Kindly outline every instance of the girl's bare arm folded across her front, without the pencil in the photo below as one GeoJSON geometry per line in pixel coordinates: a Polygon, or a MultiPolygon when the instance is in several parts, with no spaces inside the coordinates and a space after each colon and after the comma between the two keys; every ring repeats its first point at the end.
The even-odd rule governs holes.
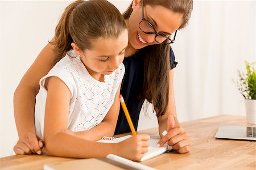
{"type": "Polygon", "coordinates": [[[76,135],[77,137],[81,137],[91,141],[97,141],[104,136],[112,137],[115,132],[115,126],[117,125],[117,118],[120,109],[119,102],[119,94],[120,94],[121,84],[119,85],[118,91],[115,94],[114,103],[112,107],[109,109],[109,112],[106,114],[104,120],[94,126],[90,130],[86,131],[69,131],[72,135],[76,135]]]}

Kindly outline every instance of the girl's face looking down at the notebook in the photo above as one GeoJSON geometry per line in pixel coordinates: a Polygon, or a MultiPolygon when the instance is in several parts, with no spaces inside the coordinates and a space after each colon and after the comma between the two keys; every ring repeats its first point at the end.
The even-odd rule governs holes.
{"type": "Polygon", "coordinates": [[[127,30],[123,31],[117,39],[96,39],[92,42],[92,49],[76,52],[86,69],[96,78],[101,75],[112,74],[123,61],[128,43],[127,30]]]}

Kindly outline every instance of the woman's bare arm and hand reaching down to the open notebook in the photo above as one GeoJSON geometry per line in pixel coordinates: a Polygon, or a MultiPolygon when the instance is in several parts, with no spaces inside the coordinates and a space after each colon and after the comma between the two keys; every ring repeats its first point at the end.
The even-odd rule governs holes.
{"type": "Polygon", "coordinates": [[[162,137],[162,139],[159,141],[159,145],[162,146],[164,143],[168,142],[168,145],[172,146],[174,150],[177,150],[180,154],[184,154],[191,150],[191,142],[187,132],[180,126],[179,121],[177,120],[174,100],[174,69],[169,71],[169,75],[169,103],[166,113],[163,116],[158,117],[159,135],[162,137]],[[174,122],[170,121],[170,118],[168,120],[170,115],[174,117],[174,122]],[[164,130],[168,131],[165,136],[162,135],[164,130]]]}

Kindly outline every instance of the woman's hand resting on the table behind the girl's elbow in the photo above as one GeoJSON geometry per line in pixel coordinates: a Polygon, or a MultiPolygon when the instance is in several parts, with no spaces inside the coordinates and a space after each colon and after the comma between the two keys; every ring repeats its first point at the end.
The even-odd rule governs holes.
{"type": "Polygon", "coordinates": [[[44,142],[42,139],[37,137],[35,133],[30,132],[19,139],[13,150],[17,155],[26,155],[32,153],[40,155],[42,154],[43,146],[44,142]]]}

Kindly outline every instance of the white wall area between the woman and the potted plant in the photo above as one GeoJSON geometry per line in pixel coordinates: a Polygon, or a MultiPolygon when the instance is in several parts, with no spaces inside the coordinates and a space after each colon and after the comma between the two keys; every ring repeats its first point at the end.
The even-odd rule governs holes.
{"type": "Polygon", "coordinates": [[[177,113],[181,121],[245,115],[232,78],[255,59],[255,1],[196,1],[173,45],[177,113]]]}

